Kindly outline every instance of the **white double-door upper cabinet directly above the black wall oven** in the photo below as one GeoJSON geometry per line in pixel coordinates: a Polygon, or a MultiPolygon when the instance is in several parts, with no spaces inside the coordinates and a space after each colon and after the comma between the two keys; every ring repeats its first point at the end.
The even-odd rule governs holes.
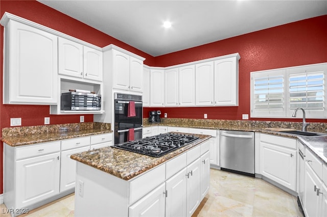
{"type": "Polygon", "coordinates": [[[143,60],[112,49],[112,88],[143,92],[143,60]]]}

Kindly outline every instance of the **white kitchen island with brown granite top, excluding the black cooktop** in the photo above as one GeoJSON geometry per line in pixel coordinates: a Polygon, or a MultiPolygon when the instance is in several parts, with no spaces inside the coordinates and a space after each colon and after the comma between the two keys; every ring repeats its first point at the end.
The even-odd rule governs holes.
{"type": "Polygon", "coordinates": [[[208,191],[209,135],[164,156],[114,147],[77,160],[76,216],[191,216],[208,191]],[[187,198],[187,200],[186,200],[187,198]]]}

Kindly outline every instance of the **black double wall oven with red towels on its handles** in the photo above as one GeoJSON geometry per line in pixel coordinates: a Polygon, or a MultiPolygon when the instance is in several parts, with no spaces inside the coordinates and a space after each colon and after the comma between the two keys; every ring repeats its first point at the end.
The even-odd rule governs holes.
{"type": "Polygon", "coordinates": [[[114,144],[142,139],[142,96],[114,94],[114,144]]]}

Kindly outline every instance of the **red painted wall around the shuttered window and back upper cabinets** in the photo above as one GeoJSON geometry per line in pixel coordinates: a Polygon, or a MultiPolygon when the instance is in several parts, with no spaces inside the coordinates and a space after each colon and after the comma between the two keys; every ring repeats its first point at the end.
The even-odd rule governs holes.
{"type": "MultiPolygon", "coordinates": [[[[149,111],[160,110],[168,113],[169,118],[203,118],[206,113],[208,119],[242,120],[242,114],[250,114],[251,71],[327,62],[326,47],[327,15],[324,15],[156,57],[156,66],[166,67],[240,53],[239,106],[144,108],[144,116],[149,117],[149,111]]],[[[325,119],[310,121],[326,122],[325,119]]]]}

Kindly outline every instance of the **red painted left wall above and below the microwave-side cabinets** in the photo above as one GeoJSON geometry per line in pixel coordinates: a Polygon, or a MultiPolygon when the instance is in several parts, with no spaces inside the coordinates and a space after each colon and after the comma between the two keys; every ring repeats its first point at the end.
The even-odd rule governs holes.
{"type": "MultiPolygon", "coordinates": [[[[48,26],[54,30],[104,47],[115,44],[129,50],[141,57],[146,58],[145,64],[154,65],[154,57],[125,44],[109,35],[106,35],[90,26],[58,12],[37,1],[0,1],[0,17],[5,12],[26,18],[39,24],[48,26]]],[[[43,125],[44,117],[50,117],[50,124],[77,123],[79,115],[49,115],[48,105],[4,105],[3,101],[3,37],[4,27],[1,26],[0,40],[0,129],[10,127],[10,118],[21,117],[22,126],[43,125]]],[[[85,122],[92,122],[93,115],[84,115],[85,122]]],[[[1,130],[0,130],[1,136],[1,130]]],[[[3,193],[3,143],[0,143],[0,194],[3,193]]]]}

